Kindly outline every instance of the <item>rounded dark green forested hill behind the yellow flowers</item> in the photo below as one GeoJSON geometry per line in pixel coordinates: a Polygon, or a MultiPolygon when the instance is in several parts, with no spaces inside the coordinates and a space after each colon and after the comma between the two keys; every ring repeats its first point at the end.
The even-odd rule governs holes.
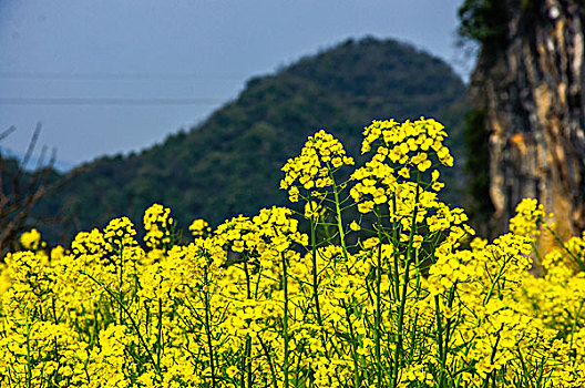
{"type": "Polygon", "coordinates": [[[321,127],[357,155],[362,129],[372,119],[433,116],[460,149],[464,94],[451,68],[428,53],[394,40],[348,40],[249,80],[235,101],[188,132],[140,154],[80,166],[38,214],[73,214],[75,229],[122,215],[141,223],[155,202],[172,207],[183,227],[198,217],[217,224],[253,215],[287,203],[278,190],[280,167],[321,127]]]}

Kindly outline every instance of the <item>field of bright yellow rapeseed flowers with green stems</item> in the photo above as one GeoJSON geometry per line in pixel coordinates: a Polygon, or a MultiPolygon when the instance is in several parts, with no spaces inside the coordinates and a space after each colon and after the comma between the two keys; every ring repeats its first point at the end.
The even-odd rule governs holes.
{"type": "Polygon", "coordinates": [[[445,137],[373,121],[356,166],[319,131],[283,167],[291,208],[196,219],[188,243],[157,204],[144,237],[127,217],[66,248],[25,233],[0,387],[585,386],[585,234],[537,252],[555,226],[528,198],[474,238],[440,201],[445,137]]]}

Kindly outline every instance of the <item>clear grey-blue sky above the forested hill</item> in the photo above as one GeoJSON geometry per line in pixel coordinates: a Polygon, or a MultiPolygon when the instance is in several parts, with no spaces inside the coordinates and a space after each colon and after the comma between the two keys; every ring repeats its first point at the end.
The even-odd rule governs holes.
{"type": "Polygon", "coordinates": [[[63,165],[140,151],[347,38],[394,38],[451,63],[462,0],[0,0],[0,146],[37,122],[63,165]]]}

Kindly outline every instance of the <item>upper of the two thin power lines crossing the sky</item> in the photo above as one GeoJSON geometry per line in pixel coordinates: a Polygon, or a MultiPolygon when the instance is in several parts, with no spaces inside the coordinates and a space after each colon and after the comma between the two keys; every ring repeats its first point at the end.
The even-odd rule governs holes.
{"type": "Polygon", "coordinates": [[[14,80],[214,80],[242,81],[248,75],[236,73],[65,73],[0,72],[0,79],[14,80]]]}

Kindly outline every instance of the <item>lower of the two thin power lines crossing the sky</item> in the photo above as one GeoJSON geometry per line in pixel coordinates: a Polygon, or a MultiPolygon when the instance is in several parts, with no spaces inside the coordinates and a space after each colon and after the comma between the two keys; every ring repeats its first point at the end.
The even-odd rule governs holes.
{"type": "Polygon", "coordinates": [[[226,99],[20,99],[0,98],[0,105],[214,105],[226,99]]]}

